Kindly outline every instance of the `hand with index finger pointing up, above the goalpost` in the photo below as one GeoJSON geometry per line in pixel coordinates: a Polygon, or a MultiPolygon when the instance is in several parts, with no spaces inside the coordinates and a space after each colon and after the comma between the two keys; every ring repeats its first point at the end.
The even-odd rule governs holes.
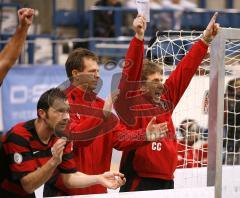
{"type": "Polygon", "coordinates": [[[209,44],[220,30],[220,25],[218,23],[216,23],[217,15],[218,15],[218,13],[215,12],[215,14],[211,18],[207,28],[203,32],[202,40],[206,44],[209,44]]]}

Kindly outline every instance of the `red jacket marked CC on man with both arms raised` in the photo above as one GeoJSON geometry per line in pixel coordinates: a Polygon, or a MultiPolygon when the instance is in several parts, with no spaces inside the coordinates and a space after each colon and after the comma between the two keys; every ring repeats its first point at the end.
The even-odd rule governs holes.
{"type": "MultiPolygon", "coordinates": [[[[134,114],[134,120],[131,120],[130,124],[126,123],[129,125],[129,129],[146,127],[153,115],[157,115],[156,123],[167,122],[168,125],[167,138],[148,143],[135,151],[123,152],[120,170],[126,175],[134,176],[134,173],[136,173],[140,177],[173,179],[173,173],[177,165],[177,140],[171,117],[172,112],[206,55],[207,48],[208,46],[199,40],[179,62],[176,69],[164,83],[165,92],[161,105],[152,103],[151,100],[144,96],[143,98],[146,99],[144,104],[139,103],[139,99],[134,101],[134,97],[129,99],[138,104],[135,105],[134,112],[133,110],[129,111],[129,108],[123,108],[123,105],[129,107],[126,102],[129,101],[128,99],[125,99],[125,103],[122,102],[123,99],[115,103],[115,109],[123,122],[126,123],[123,115],[134,114]]],[[[140,80],[143,54],[143,41],[133,38],[127,51],[127,63],[124,66],[123,77],[119,85],[121,90],[129,89],[131,82],[140,80]]],[[[130,116],[128,120],[130,120],[130,116]]]]}

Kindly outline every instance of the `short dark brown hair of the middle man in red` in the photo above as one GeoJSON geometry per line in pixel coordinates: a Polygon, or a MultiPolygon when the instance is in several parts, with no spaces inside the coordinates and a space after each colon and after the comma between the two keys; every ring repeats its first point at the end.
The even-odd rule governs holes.
{"type": "Polygon", "coordinates": [[[72,71],[74,69],[78,71],[83,71],[84,70],[84,58],[89,58],[95,61],[98,61],[98,57],[96,54],[91,52],[90,50],[84,49],[84,48],[77,48],[73,50],[69,56],[68,59],[65,63],[65,69],[68,78],[72,77],[72,71]]]}

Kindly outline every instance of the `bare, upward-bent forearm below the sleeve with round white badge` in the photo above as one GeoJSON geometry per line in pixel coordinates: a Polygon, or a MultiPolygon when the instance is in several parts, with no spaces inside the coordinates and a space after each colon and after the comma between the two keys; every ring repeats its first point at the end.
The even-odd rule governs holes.
{"type": "Polygon", "coordinates": [[[33,193],[50,179],[56,167],[56,163],[54,163],[53,158],[51,158],[41,168],[23,177],[21,179],[22,187],[26,192],[33,193]]]}

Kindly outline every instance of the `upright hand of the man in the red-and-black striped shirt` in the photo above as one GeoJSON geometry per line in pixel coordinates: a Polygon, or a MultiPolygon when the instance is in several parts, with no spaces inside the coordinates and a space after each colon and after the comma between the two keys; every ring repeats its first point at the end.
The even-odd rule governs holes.
{"type": "Polygon", "coordinates": [[[66,142],[67,140],[65,138],[60,138],[51,148],[52,159],[56,166],[62,163],[63,150],[65,148],[66,142]]]}

